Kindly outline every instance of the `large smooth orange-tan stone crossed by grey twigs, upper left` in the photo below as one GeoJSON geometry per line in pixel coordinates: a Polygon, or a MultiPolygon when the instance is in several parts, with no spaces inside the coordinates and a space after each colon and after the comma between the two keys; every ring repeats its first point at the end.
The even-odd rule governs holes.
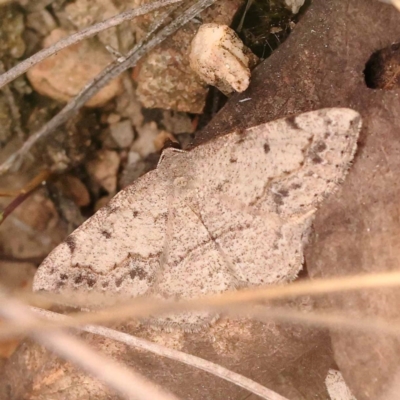
{"type": "MultiPolygon", "coordinates": [[[[68,33],[62,29],[53,30],[44,40],[44,47],[66,35],[68,33]]],[[[28,70],[27,77],[40,94],[59,101],[69,101],[112,61],[112,56],[95,40],[85,40],[33,66],[28,70]]],[[[121,78],[116,78],[95,94],[86,106],[101,107],[121,90],[121,78]]]]}

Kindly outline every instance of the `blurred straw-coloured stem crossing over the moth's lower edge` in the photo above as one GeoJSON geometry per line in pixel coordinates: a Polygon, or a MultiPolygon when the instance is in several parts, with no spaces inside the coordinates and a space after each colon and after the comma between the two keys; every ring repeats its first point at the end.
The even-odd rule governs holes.
{"type": "MultiPolygon", "coordinates": [[[[110,321],[122,321],[127,318],[146,318],[171,312],[190,310],[224,310],[232,305],[242,307],[257,301],[284,299],[303,295],[322,295],[335,292],[356,291],[383,287],[399,287],[400,272],[384,272],[312,281],[294,282],[285,286],[258,287],[239,291],[230,291],[220,295],[208,295],[200,299],[157,301],[150,298],[133,299],[114,307],[92,313],[70,314],[71,319],[59,321],[42,321],[41,324],[26,325],[21,328],[15,325],[0,327],[0,337],[11,337],[29,332],[32,329],[54,329],[55,327],[77,327],[90,324],[101,324],[110,321]]],[[[54,294],[52,294],[54,296],[54,294]]],[[[400,328],[396,327],[396,329],[400,328]]],[[[396,331],[397,332],[397,331],[396,331]]]]}

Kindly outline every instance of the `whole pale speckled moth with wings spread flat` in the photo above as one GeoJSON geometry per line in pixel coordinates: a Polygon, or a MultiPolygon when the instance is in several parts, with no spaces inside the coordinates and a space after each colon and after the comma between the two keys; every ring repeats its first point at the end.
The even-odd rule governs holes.
{"type": "MultiPolygon", "coordinates": [[[[288,282],[317,208],[345,178],[360,115],[328,108],[167,149],[43,261],[35,291],[187,299],[288,282]]],[[[185,312],[150,323],[201,329],[185,312]]]]}

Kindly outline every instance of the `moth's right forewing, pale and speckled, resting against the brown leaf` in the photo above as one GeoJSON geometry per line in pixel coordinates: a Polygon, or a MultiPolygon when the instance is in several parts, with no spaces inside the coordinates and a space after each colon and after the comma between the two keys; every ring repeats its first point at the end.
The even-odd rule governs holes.
{"type": "Polygon", "coordinates": [[[190,152],[193,184],[204,207],[220,194],[282,218],[304,214],[346,176],[360,127],[356,111],[327,108],[223,136],[190,152]]]}

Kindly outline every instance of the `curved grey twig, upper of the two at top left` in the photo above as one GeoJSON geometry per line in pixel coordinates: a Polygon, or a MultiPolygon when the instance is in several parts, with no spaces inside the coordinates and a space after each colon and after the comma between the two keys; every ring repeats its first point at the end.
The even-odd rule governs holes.
{"type": "Polygon", "coordinates": [[[7,85],[18,76],[25,73],[29,68],[33,67],[34,65],[40,63],[41,61],[45,60],[46,58],[52,56],[53,54],[59,52],[62,49],[65,49],[68,46],[71,46],[75,43],[78,43],[84,39],[90,38],[96,35],[99,32],[105,31],[110,29],[114,26],[121,24],[124,21],[129,21],[140,15],[148,14],[152,11],[155,11],[159,8],[169,6],[174,3],[181,3],[184,0],[160,0],[154,1],[143,6],[125,11],[121,14],[115,15],[114,17],[108,18],[98,24],[94,24],[87,28],[82,29],[79,32],[74,33],[71,36],[68,36],[64,39],[61,39],[57,43],[53,44],[50,47],[47,47],[33,56],[27,58],[26,60],[21,61],[18,65],[11,68],[9,71],[5,72],[4,74],[0,75],[0,88],[4,85],[7,85]]]}

